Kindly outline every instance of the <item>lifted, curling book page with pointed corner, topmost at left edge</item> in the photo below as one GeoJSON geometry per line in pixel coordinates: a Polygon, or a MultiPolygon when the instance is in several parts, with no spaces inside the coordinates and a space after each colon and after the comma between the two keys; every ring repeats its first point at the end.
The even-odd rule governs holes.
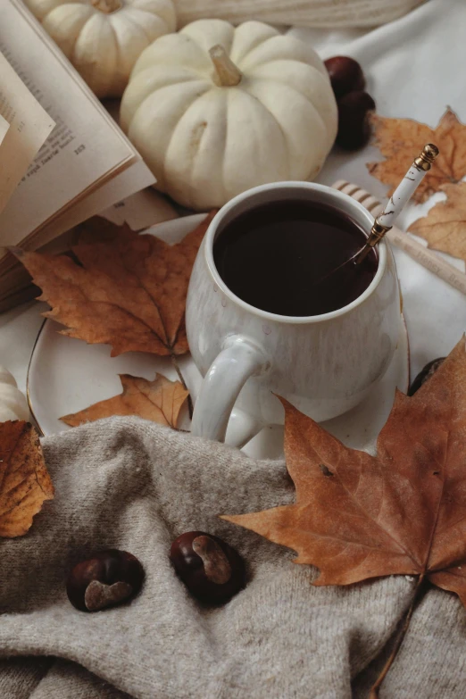
{"type": "Polygon", "coordinates": [[[55,122],[0,53],[0,212],[55,122]],[[6,129],[5,126],[6,125],[6,129]],[[2,129],[4,134],[2,137],[2,129]]]}

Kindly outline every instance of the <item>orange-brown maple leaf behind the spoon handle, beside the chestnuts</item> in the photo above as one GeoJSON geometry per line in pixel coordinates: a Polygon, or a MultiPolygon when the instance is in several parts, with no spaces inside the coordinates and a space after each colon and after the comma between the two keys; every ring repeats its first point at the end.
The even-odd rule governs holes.
{"type": "Polygon", "coordinates": [[[372,126],[375,145],[385,155],[382,162],[368,163],[370,174],[390,186],[392,195],[426,143],[440,149],[434,167],[412,195],[415,202],[425,202],[446,183],[459,182],[466,175],[466,126],[448,108],[436,129],[412,119],[389,119],[374,114],[372,126]]]}

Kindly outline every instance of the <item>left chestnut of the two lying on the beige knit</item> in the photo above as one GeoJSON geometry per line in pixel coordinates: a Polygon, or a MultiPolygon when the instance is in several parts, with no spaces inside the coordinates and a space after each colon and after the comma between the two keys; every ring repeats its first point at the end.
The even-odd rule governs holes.
{"type": "Polygon", "coordinates": [[[99,612],[137,595],[144,569],[136,556],[118,549],[94,553],[74,566],[66,583],[68,599],[81,612],[99,612]]]}

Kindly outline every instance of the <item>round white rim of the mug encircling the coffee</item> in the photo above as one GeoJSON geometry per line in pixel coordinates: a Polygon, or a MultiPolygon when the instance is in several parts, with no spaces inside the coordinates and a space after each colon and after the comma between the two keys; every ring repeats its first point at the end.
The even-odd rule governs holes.
{"type": "Polygon", "coordinates": [[[226,295],[230,299],[230,301],[240,306],[243,310],[250,313],[254,313],[254,315],[257,315],[264,320],[271,320],[275,322],[296,325],[304,325],[306,323],[318,323],[323,322],[325,320],[333,320],[334,318],[338,318],[341,315],[345,315],[345,313],[353,311],[354,308],[357,308],[359,305],[363,304],[364,301],[366,301],[366,299],[369,298],[370,295],[372,295],[375,289],[379,286],[379,283],[382,277],[384,276],[385,270],[387,268],[388,250],[387,242],[385,241],[385,239],[381,240],[378,245],[379,265],[374,275],[374,278],[370,282],[369,287],[367,287],[365,291],[363,291],[362,294],[355,298],[354,301],[352,301],[350,304],[346,304],[345,306],[342,306],[342,308],[337,308],[336,311],[320,313],[320,315],[281,315],[279,313],[272,313],[270,311],[262,311],[261,308],[257,308],[252,304],[248,304],[246,301],[243,301],[242,298],[239,298],[239,296],[234,294],[231,291],[231,289],[225,284],[223,279],[221,279],[219,271],[217,270],[217,267],[213,260],[213,242],[217,229],[219,228],[221,221],[224,219],[224,217],[229,212],[231,212],[231,210],[234,209],[237,206],[237,204],[240,204],[241,202],[245,201],[245,199],[253,197],[254,195],[261,194],[262,192],[273,191],[274,189],[295,188],[304,189],[308,191],[318,191],[329,194],[335,199],[340,200],[346,206],[349,205],[350,207],[356,209],[367,220],[368,226],[370,228],[372,227],[374,219],[373,216],[370,215],[370,212],[368,212],[368,210],[365,209],[364,206],[362,206],[362,204],[357,202],[351,196],[348,196],[344,192],[340,192],[338,189],[333,189],[333,187],[328,187],[327,185],[320,185],[315,182],[304,182],[299,180],[271,182],[268,185],[259,185],[258,187],[246,189],[245,192],[242,192],[241,194],[234,196],[233,199],[230,199],[229,202],[227,204],[224,204],[221,207],[220,211],[215,214],[204,237],[204,254],[205,260],[207,262],[207,267],[212,275],[212,279],[216,286],[221,289],[223,294],[226,295]]]}

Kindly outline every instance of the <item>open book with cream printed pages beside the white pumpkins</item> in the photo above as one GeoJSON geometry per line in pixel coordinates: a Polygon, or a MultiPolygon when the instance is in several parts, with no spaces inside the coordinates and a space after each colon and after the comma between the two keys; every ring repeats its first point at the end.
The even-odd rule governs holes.
{"type": "MultiPolygon", "coordinates": [[[[29,283],[7,247],[62,252],[70,229],[153,183],[21,0],[0,0],[0,310],[26,297],[29,283]]],[[[153,208],[161,201],[141,195],[154,196],[153,208]]],[[[137,212],[137,202],[127,208],[137,212]]]]}

